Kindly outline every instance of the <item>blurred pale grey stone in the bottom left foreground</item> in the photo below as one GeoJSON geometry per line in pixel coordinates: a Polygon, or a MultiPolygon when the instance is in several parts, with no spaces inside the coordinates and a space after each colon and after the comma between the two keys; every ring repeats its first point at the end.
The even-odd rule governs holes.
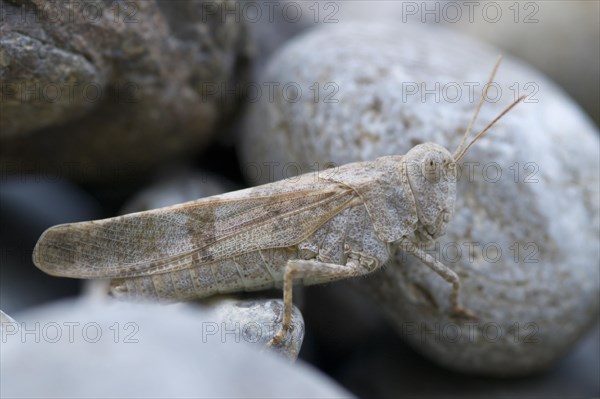
{"type": "Polygon", "coordinates": [[[65,301],[19,320],[34,332],[2,343],[2,397],[351,397],[302,362],[220,339],[221,320],[192,306],[65,301]]]}

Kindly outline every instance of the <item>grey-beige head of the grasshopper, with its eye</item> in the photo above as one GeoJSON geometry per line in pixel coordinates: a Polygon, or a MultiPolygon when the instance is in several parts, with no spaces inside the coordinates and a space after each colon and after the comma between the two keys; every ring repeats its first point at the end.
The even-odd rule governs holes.
{"type": "Polygon", "coordinates": [[[425,143],[405,158],[408,182],[419,222],[415,234],[424,242],[444,235],[456,201],[456,162],[444,147],[425,143]]]}

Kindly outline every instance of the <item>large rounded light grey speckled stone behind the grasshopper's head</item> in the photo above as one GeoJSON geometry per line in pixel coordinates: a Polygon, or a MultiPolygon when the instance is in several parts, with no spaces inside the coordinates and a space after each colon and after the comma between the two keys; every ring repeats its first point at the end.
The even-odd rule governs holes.
{"type": "MultiPolygon", "coordinates": [[[[274,101],[250,107],[243,162],[276,165],[274,177],[282,178],[291,163],[310,172],[404,154],[426,141],[453,151],[498,53],[432,26],[315,29],[269,63],[263,81],[296,82],[301,95],[280,87],[274,101]]],[[[460,301],[477,319],[451,318],[450,286],[402,253],[355,285],[437,362],[523,375],[549,367],[597,318],[599,142],[573,101],[516,59],[503,62],[495,82],[500,90],[490,89],[494,101],[484,104],[475,131],[517,88],[522,94],[529,84],[536,93],[464,158],[455,215],[430,251],[461,277],[460,301]]]]}

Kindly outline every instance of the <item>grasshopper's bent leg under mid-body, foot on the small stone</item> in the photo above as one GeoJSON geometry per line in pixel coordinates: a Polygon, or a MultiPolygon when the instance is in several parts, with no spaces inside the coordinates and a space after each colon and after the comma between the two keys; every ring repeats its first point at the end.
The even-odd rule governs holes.
{"type": "Polygon", "coordinates": [[[269,341],[267,346],[279,345],[289,332],[292,324],[292,289],[294,279],[305,277],[325,277],[343,279],[365,274],[366,271],[355,260],[345,265],[324,263],[317,260],[290,259],[283,275],[283,325],[281,330],[269,341]]]}

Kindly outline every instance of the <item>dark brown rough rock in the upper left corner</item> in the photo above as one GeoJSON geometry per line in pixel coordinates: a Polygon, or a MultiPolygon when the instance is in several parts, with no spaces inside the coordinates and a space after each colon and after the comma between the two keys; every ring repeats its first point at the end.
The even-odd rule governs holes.
{"type": "Polygon", "coordinates": [[[233,4],[0,2],[0,167],[116,181],[202,148],[249,76],[233,4]]]}

